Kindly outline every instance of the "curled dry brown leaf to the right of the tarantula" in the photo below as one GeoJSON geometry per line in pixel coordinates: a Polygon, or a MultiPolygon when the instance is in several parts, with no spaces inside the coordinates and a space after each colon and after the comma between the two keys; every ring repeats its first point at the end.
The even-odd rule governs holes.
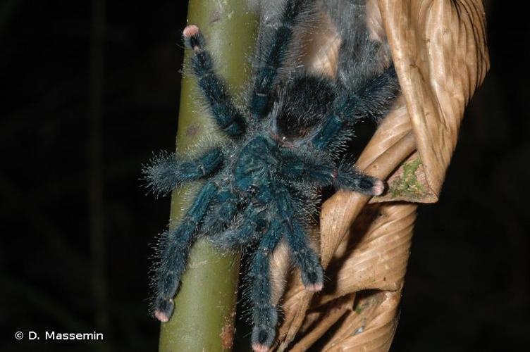
{"type": "MultiPolygon", "coordinates": [[[[291,275],[279,351],[304,351],[330,329],[322,351],[388,351],[415,203],[438,200],[464,107],[489,68],[481,0],[369,0],[367,10],[372,37],[390,45],[402,99],[357,165],[386,179],[388,191],[376,199],[339,191],[323,204],[327,287],[313,297],[291,275]],[[369,202],[381,204],[366,206],[369,202]]],[[[328,25],[326,18],[323,24],[328,25]]],[[[329,28],[322,32],[333,35],[329,28]]],[[[325,50],[310,51],[304,63],[332,74],[338,42],[329,37],[325,42],[325,50]]]]}

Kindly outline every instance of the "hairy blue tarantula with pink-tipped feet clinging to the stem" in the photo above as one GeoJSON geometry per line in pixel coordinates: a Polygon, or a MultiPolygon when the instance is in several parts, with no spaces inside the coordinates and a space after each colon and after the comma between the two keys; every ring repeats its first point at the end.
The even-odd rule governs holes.
{"type": "Polygon", "coordinates": [[[371,196],[384,191],[381,180],[341,161],[339,154],[355,122],[383,118],[398,93],[398,79],[392,64],[381,67],[381,45],[369,39],[362,20],[341,18],[330,5],[337,1],[359,5],[354,4],[359,0],[323,2],[342,37],[335,78],[288,65],[297,30],[316,12],[314,1],[287,0],[278,25],[260,34],[245,111],[235,106],[216,74],[199,27],[185,27],[192,72],[216,124],[231,142],[197,160],[162,154],[144,170],[149,187],[164,194],[184,182],[207,179],[180,225],[162,236],[154,270],[158,320],[167,322],[173,313],[173,296],[198,236],[208,237],[223,251],[252,249],[252,348],[267,351],[278,322],[269,276],[276,246],[281,241],[288,246],[307,291],[320,291],[323,270],[309,244],[307,220],[319,205],[315,194],[330,186],[371,196]]]}

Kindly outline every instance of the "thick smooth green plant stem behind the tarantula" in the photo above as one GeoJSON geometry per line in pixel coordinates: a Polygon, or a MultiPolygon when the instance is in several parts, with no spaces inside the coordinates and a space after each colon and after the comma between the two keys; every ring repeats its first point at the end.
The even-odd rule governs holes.
{"type": "MultiPolygon", "coordinates": [[[[254,48],[257,18],[247,11],[245,0],[190,0],[188,23],[198,25],[217,63],[216,69],[242,93],[250,72],[247,54],[254,48]]],[[[188,56],[190,53],[186,53],[188,56]]],[[[179,153],[200,153],[194,145],[207,138],[223,138],[198,101],[194,77],[185,75],[180,95],[177,144],[179,153]]],[[[197,189],[197,184],[190,189],[197,189]]],[[[170,227],[178,224],[184,191],[173,192],[170,227]]],[[[192,198],[190,198],[192,199],[192,198]]],[[[188,199],[189,200],[189,199],[188,199]]],[[[238,291],[238,253],[216,252],[205,240],[192,247],[171,320],[161,324],[159,351],[229,351],[233,344],[235,303],[238,291]]]]}

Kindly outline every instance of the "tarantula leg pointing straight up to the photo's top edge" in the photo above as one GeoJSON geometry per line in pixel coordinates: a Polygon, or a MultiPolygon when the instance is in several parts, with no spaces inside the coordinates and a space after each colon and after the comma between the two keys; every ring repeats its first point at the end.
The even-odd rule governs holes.
{"type": "Polygon", "coordinates": [[[281,13],[280,24],[271,34],[271,43],[264,48],[257,64],[256,79],[250,96],[250,113],[256,118],[264,118],[269,113],[271,92],[278,70],[288,55],[293,29],[298,15],[312,3],[308,0],[288,0],[281,13]]]}

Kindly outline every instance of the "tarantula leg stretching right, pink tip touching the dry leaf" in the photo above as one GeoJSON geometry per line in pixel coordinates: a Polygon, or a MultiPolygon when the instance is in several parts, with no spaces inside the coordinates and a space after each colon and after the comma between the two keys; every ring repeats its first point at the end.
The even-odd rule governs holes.
{"type": "Polygon", "coordinates": [[[283,151],[287,154],[283,160],[282,174],[293,180],[305,180],[315,187],[333,186],[335,189],[346,189],[367,196],[378,196],[385,190],[385,184],[369,175],[359,172],[353,163],[340,163],[338,166],[318,153],[297,153],[283,151]],[[292,155],[289,155],[292,154],[292,155]]]}

